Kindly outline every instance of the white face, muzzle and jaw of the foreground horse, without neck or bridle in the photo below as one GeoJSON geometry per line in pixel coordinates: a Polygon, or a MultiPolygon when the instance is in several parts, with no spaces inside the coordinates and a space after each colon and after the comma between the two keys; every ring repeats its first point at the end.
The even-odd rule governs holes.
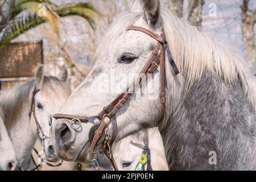
{"type": "MultiPolygon", "coordinates": [[[[147,5],[144,4],[146,1],[142,2],[143,8],[146,7],[147,5]]],[[[141,6],[140,3],[137,5],[141,6]]],[[[158,6],[158,4],[156,5],[158,6]]],[[[146,21],[151,16],[148,16],[146,9],[144,9],[145,15],[139,9],[142,10],[142,8],[134,7],[134,11],[132,10],[130,14],[118,19],[106,32],[97,49],[94,68],[68,98],[61,109],[61,113],[96,115],[103,106],[109,104],[126,90],[127,85],[131,85],[157,42],[142,32],[127,31],[127,28],[134,24],[154,30],[158,34],[162,28],[160,16],[154,16],[154,20],[146,21]]],[[[158,10],[159,6],[155,11],[158,10]]],[[[157,125],[160,113],[158,76],[159,72],[156,72],[155,79],[152,81],[155,86],[151,85],[150,93],[135,94],[129,99],[129,104],[123,106],[116,114],[118,122],[117,140],[136,133],[144,125],[147,127],[157,125]],[[148,112],[148,110],[154,110],[154,112],[148,112]]],[[[83,123],[82,131],[75,132],[69,128],[69,121],[65,119],[53,122],[51,134],[57,152],[65,160],[77,160],[79,158],[78,160],[89,162],[87,154],[90,145],[86,144],[85,147],[84,145],[89,141],[90,127],[92,124],[83,123]],[[81,155],[78,156],[79,154],[81,155]]]]}

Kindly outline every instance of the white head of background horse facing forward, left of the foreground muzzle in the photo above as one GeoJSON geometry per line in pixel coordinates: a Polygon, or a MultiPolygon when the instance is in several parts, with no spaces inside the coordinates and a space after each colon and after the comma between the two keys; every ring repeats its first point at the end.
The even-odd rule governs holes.
{"type": "MultiPolygon", "coordinates": [[[[59,158],[55,155],[54,148],[52,146],[51,139],[49,138],[49,123],[48,115],[53,111],[58,111],[60,107],[64,104],[69,96],[69,88],[66,85],[68,80],[67,69],[64,69],[63,73],[60,75],[60,78],[45,76],[43,66],[40,66],[35,74],[36,88],[39,89],[39,92],[35,94],[35,117],[31,113],[32,123],[35,123],[35,119],[38,119],[39,127],[42,127],[42,134],[46,135],[44,139],[44,152],[46,154],[46,159],[48,161],[56,161],[59,158]]],[[[36,126],[36,130],[38,127],[36,126]]],[[[40,132],[40,130],[39,130],[40,132]]]]}

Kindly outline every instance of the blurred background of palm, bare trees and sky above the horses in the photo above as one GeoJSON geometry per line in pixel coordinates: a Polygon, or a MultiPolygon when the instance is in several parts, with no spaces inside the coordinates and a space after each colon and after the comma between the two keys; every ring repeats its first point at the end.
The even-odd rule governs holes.
{"type": "MultiPolygon", "coordinates": [[[[256,2],[252,0],[161,0],[174,15],[236,44],[255,72],[256,2]],[[211,14],[212,13],[212,14],[211,14]]],[[[128,0],[0,0],[0,47],[9,42],[43,40],[51,74],[69,69],[73,88],[90,71],[93,55],[109,24],[130,11],[128,0]],[[39,16],[40,3],[46,15],[39,16]]],[[[218,38],[222,40],[223,38],[218,38]]]]}

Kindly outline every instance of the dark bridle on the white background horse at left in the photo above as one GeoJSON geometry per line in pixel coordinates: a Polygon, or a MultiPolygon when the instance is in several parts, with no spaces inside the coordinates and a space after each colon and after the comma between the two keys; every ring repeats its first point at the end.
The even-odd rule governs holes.
{"type": "MultiPolygon", "coordinates": [[[[36,86],[35,86],[35,88],[34,88],[34,90],[33,90],[33,92],[32,92],[32,101],[31,101],[31,106],[30,106],[30,111],[29,111],[29,113],[28,113],[28,117],[30,117],[30,121],[31,121],[31,116],[32,116],[32,114],[33,114],[33,117],[34,117],[34,119],[35,119],[35,124],[36,124],[36,133],[38,134],[38,138],[40,139],[40,142],[41,142],[41,144],[42,144],[42,146],[43,146],[43,151],[44,151],[44,140],[45,140],[45,139],[49,139],[49,137],[47,137],[46,135],[44,135],[43,129],[42,129],[42,127],[40,126],[40,124],[39,124],[39,122],[38,122],[38,119],[36,118],[36,114],[35,114],[35,95],[36,95],[36,93],[38,93],[39,91],[40,91],[40,89],[37,89],[36,86]],[[41,135],[40,135],[40,133],[41,133],[41,135]],[[41,137],[41,136],[42,136],[42,137],[41,137]]],[[[36,148],[34,147],[33,149],[34,149],[36,155],[39,156],[39,152],[36,150],[36,148]]],[[[40,158],[40,156],[39,156],[39,158],[40,158]]],[[[34,157],[32,156],[32,154],[31,154],[31,159],[32,159],[32,162],[33,162],[34,165],[35,165],[35,167],[34,167],[33,169],[31,169],[31,171],[35,171],[36,169],[40,169],[40,168],[42,167],[42,164],[36,164],[35,159],[34,159],[34,157]]],[[[51,167],[61,166],[62,163],[63,163],[63,160],[61,160],[60,162],[58,162],[58,163],[56,163],[56,164],[51,164],[51,163],[46,162],[46,164],[47,164],[48,166],[51,166],[51,167]]],[[[24,169],[22,169],[22,168],[19,167],[19,170],[20,170],[20,171],[23,171],[24,169]]]]}

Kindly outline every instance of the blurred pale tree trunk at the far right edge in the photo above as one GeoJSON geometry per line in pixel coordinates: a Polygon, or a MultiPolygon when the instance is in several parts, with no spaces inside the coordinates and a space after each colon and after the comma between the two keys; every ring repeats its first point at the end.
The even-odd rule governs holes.
{"type": "Polygon", "coordinates": [[[243,0],[241,5],[242,12],[242,34],[245,47],[245,56],[249,67],[253,68],[256,59],[254,24],[256,23],[256,9],[248,8],[249,0],[243,0]]]}

